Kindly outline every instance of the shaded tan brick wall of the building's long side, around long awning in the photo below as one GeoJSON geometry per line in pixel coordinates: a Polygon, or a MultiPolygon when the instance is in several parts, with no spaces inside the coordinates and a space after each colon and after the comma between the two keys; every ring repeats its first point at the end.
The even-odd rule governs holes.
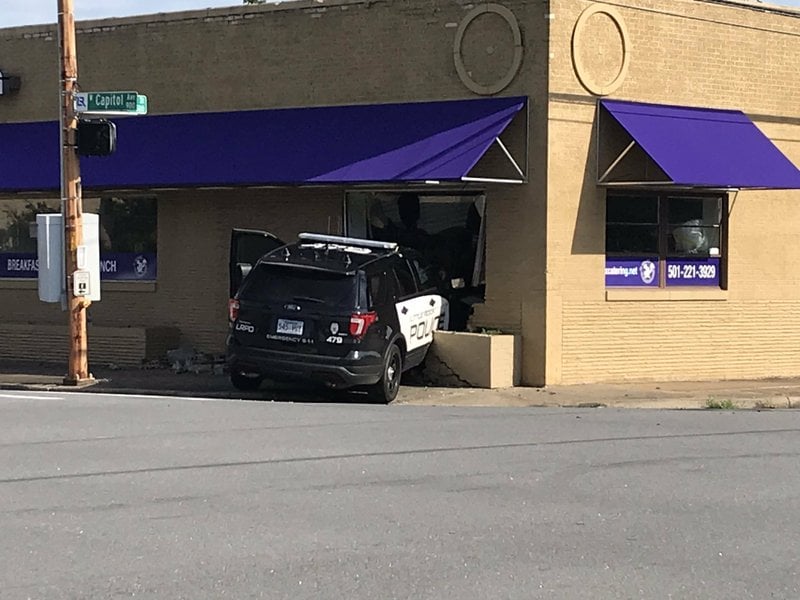
{"type": "MultiPolygon", "coordinates": [[[[533,184],[488,190],[489,291],[476,323],[514,331],[522,328],[523,308],[529,321],[536,315],[539,328],[544,318],[543,310],[531,310],[531,293],[538,290],[534,305],[543,303],[546,4],[505,3],[519,21],[525,51],[502,95],[532,97],[533,184]],[[508,255],[525,259],[508,261],[508,255]]],[[[84,90],[147,94],[151,114],[474,97],[453,61],[457,27],[472,8],[444,0],[339,0],[325,6],[301,1],[79,22],[79,79],[84,90]]],[[[491,83],[505,68],[513,51],[508,37],[507,26],[494,16],[480,17],[467,30],[464,61],[476,81],[491,83]]],[[[0,122],[55,119],[54,26],[0,30],[0,55],[4,69],[23,76],[20,93],[0,105],[0,122]]],[[[155,290],[114,292],[108,286],[92,318],[113,326],[179,325],[187,340],[204,350],[220,348],[224,337],[231,226],[260,222],[291,236],[307,228],[304,223],[324,229],[329,216],[336,221],[341,215],[341,190],[158,196],[155,290]],[[202,242],[187,243],[192,236],[202,242]]],[[[63,319],[57,309],[33,302],[32,290],[0,297],[36,305],[30,315],[12,310],[1,319],[63,319]]],[[[543,364],[540,358],[538,372],[543,364]]]]}

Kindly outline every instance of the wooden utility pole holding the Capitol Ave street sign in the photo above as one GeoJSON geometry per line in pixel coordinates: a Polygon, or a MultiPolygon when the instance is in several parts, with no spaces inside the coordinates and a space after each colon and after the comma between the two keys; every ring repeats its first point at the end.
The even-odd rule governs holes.
{"type": "Polygon", "coordinates": [[[73,0],[58,0],[58,46],[61,70],[61,214],[64,222],[64,281],[69,321],[69,370],[66,385],[92,380],[89,374],[86,309],[91,302],[73,293],[78,270],[78,248],[83,245],[83,200],[78,162],[75,96],[78,91],[78,58],[75,43],[73,0]]]}

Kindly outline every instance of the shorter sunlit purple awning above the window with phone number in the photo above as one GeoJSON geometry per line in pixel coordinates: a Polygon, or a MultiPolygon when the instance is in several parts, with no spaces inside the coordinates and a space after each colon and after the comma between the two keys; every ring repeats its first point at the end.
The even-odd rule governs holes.
{"type": "Polygon", "coordinates": [[[601,100],[675,185],[800,188],[800,170],[744,113],[601,100]]]}

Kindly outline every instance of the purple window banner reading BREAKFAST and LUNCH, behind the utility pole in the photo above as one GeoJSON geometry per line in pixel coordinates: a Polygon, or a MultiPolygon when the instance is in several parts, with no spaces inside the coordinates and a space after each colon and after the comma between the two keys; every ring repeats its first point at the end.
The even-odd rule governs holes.
{"type": "MultiPolygon", "coordinates": [[[[0,252],[0,278],[36,279],[39,260],[35,252],[0,252]]],[[[100,255],[102,281],[155,281],[156,254],[117,252],[100,255]]]]}

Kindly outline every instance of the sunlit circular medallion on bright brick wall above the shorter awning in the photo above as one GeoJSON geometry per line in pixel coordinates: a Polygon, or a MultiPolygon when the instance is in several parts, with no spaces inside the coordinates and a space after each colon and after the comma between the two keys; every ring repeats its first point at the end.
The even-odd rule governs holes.
{"type": "Polygon", "coordinates": [[[616,8],[593,4],[572,32],[572,63],[581,84],[597,96],[612,94],[628,73],[630,41],[616,8]]]}

